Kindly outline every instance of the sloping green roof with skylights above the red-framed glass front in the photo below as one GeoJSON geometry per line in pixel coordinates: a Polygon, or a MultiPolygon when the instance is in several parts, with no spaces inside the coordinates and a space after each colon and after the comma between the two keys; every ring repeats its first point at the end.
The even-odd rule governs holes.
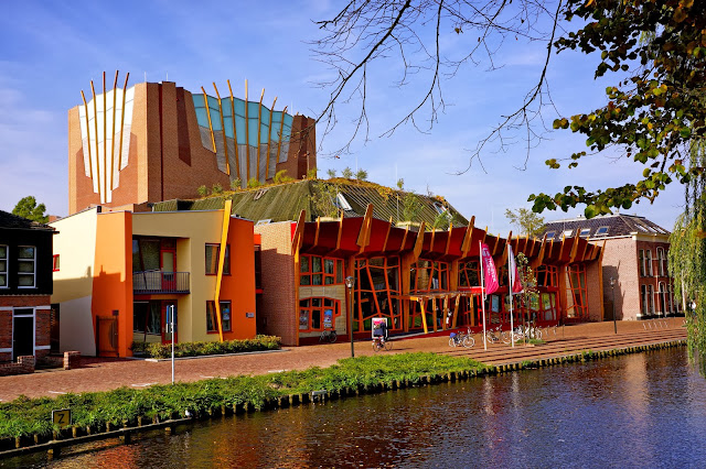
{"type": "Polygon", "coordinates": [[[304,179],[279,185],[225,193],[195,200],[165,200],[153,204],[153,211],[221,209],[225,199],[233,199],[233,214],[250,220],[297,220],[306,210],[307,221],[330,217],[343,210],[344,218],[362,217],[368,204],[373,204],[373,217],[394,222],[424,221],[432,226],[443,210],[448,210],[454,226],[466,226],[468,220],[443,197],[426,196],[392,189],[368,182],[343,178],[329,181],[304,179]],[[405,210],[405,200],[415,198],[417,210],[405,210]],[[328,211],[328,212],[327,212],[328,211]],[[406,214],[416,211],[411,220],[406,214]]]}

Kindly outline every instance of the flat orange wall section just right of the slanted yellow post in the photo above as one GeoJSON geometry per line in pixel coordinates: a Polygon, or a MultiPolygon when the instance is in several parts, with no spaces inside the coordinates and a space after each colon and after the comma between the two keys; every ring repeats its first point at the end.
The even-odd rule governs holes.
{"type": "Polygon", "coordinates": [[[228,244],[231,244],[231,275],[223,275],[221,297],[231,301],[232,331],[224,332],[224,340],[255,337],[255,250],[253,222],[231,218],[228,244]],[[246,317],[252,313],[253,317],[246,317]]]}

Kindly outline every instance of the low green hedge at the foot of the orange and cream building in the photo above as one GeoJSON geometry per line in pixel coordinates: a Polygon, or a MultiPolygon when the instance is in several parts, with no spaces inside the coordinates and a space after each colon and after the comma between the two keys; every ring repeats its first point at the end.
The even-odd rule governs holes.
{"type": "MultiPolygon", "coordinates": [[[[242,353],[259,350],[279,350],[281,339],[274,336],[257,336],[254,339],[224,340],[223,342],[179,342],[174,343],[174,357],[200,357],[204,355],[242,353]]],[[[132,342],[133,353],[145,353],[151,358],[170,358],[172,345],[161,342],[132,342]]]]}

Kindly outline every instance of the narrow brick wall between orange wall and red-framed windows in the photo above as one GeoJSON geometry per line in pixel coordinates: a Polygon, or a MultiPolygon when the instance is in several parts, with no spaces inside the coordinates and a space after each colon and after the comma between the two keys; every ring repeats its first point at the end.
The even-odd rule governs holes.
{"type": "Polygon", "coordinates": [[[291,255],[291,225],[255,227],[261,236],[263,301],[257,312],[257,332],[279,336],[282,343],[297,343],[298,317],[295,299],[295,260],[291,255]]]}

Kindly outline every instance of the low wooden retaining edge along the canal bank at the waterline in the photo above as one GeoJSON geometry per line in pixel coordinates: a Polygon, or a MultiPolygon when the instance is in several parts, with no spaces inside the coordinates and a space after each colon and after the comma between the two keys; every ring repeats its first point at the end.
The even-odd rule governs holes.
{"type": "MultiPolygon", "coordinates": [[[[674,340],[668,342],[649,343],[643,346],[625,347],[613,350],[601,350],[568,355],[564,357],[541,359],[541,360],[526,360],[516,363],[501,364],[496,367],[488,367],[480,371],[462,371],[462,372],[449,372],[443,374],[425,375],[420,377],[418,381],[393,381],[391,384],[381,383],[377,385],[362,385],[356,389],[345,388],[340,391],[327,391],[312,390],[310,393],[290,394],[271,399],[265,403],[261,411],[268,411],[279,407],[289,407],[293,405],[301,405],[312,402],[325,402],[338,399],[345,399],[349,396],[357,396],[362,394],[375,394],[386,391],[402,390],[406,388],[424,386],[438,383],[466,381],[477,377],[494,375],[514,372],[518,370],[537,369],[541,367],[552,367],[555,364],[574,363],[589,360],[597,360],[601,358],[617,357],[628,353],[638,353],[651,350],[667,349],[673,347],[682,347],[686,345],[686,340],[674,340]]],[[[150,418],[147,416],[139,416],[133,422],[125,421],[121,426],[116,426],[110,423],[105,426],[96,427],[77,427],[73,426],[64,428],[61,432],[54,432],[52,436],[33,435],[18,438],[4,438],[0,439],[0,458],[20,456],[28,452],[47,451],[50,458],[58,456],[62,448],[83,445],[89,441],[98,439],[111,439],[119,438],[120,443],[130,443],[131,434],[154,430],[163,428],[168,434],[175,430],[176,426],[191,425],[196,419],[208,419],[214,417],[222,417],[228,415],[238,415],[244,413],[257,412],[255,406],[250,403],[243,403],[228,406],[213,407],[207,412],[193,415],[189,418],[181,418],[181,415],[173,413],[168,421],[160,422],[159,418],[150,418]]]]}

